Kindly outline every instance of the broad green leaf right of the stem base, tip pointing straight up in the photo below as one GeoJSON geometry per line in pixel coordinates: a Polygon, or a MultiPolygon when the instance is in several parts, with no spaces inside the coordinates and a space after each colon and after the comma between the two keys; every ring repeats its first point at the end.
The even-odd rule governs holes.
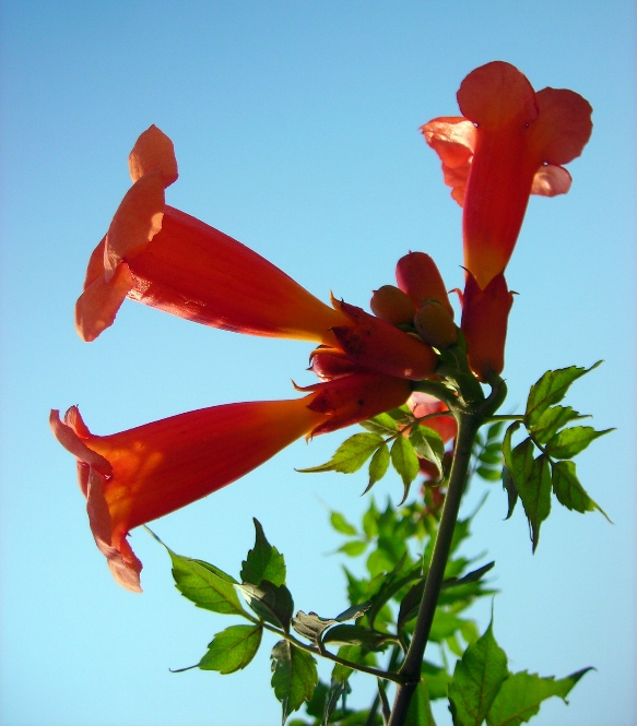
{"type": "Polygon", "coordinates": [[[506,653],[493,635],[493,622],[456,664],[449,687],[453,726],[480,726],[509,676],[506,653]]]}

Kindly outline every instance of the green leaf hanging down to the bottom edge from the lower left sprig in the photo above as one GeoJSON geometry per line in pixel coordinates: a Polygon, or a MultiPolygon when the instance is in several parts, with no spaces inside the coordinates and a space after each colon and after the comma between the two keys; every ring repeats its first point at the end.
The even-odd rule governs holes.
{"type": "Polygon", "coordinates": [[[282,724],[297,711],[304,701],[309,701],[318,683],[316,660],[292,643],[279,641],[272,648],[272,688],[283,706],[282,724]]]}

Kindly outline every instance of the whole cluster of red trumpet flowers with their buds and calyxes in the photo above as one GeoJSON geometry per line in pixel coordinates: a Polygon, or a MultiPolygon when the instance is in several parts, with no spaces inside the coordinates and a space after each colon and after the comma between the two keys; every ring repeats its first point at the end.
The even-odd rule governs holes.
{"type": "MultiPolygon", "coordinates": [[[[511,294],[503,273],[528,197],[567,191],[570,177],[558,165],[581,152],[590,107],[569,91],[535,94],[502,62],[473,71],[458,98],[464,117],[435,119],[423,132],[464,207],[461,331],[470,365],[486,381],[504,366],[511,294]]],[[[235,481],[303,436],[401,406],[414,381],[436,379],[459,330],[427,254],[398,262],[397,285],[374,294],[374,314],[343,300],[326,305],[240,242],[165,203],[178,172],[160,129],[141,134],[129,169],[133,183],[89,261],[75,307],[80,336],[94,341],[128,297],[213,328],[318,344],[310,365],[319,378],[297,389],[303,397],[213,406],[111,436],[91,433],[75,406],[63,418],[51,412],[55,436],[78,461],[97,547],[117,582],[139,592],[131,528],[235,481]]],[[[438,406],[427,413],[446,409],[426,405],[438,406]]],[[[453,438],[452,418],[434,421],[445,441],[453,438]]]]}

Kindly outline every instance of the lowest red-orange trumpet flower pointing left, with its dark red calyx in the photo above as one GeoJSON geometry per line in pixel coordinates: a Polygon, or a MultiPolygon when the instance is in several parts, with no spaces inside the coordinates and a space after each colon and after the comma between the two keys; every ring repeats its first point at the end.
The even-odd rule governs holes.
{"type": "Polygon", "coordinates": [[[91,433],[75,406],[63,420],[52,410],[52,431],[78,460],[91,529],[115,580],[141,591],[131,528],[225,487],[304,435],[356,424],[410,394],[408,381],[375,373],[310,390],[304,398],[202,408],[111,436],[91,433]]]}

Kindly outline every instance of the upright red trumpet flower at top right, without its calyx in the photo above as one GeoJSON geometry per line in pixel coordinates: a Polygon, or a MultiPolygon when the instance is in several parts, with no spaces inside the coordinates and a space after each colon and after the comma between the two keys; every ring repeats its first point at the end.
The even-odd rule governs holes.
{"type": "Polygon", "coordinates": [[[464,266],[484,290],[511,257],[529,195],[569,190],[562,165],[581,154],[592,109],[573,91],[535,93],[520,71],[502,61],[472,71],[458,105],[463,117],[436,118],[422,131],[443,160],[451,195],[464,207],[464,266]]]}

